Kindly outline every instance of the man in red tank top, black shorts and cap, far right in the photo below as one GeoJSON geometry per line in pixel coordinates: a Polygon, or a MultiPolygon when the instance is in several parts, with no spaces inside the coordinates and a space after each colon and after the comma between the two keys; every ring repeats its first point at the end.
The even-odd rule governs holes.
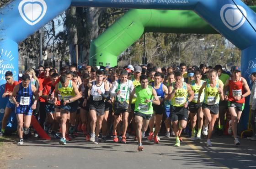
{"type": "Polygon", "coordinates": [[[229,87],[229,96],[225,95],[225,99],[228,100],[229,112],[231,114],[234,142],[235,145],[239,145],[239,139],[236,137],[236,126],[237,123],[239,123],[242,111],[245,108],[245,97],[251,94],[245,78],[241,77],[240,67],[233,67],[232,77],[230,77],[224,85],[224,93],[227,90],[227,87],[229,87]]]}

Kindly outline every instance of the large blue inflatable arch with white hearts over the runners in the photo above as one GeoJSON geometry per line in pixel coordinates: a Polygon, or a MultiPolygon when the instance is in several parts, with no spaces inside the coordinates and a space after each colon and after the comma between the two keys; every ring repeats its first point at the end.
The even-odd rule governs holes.
{"type": "MultiPolygon", "coordinates": [[[[0,94],[5,72],[17,80],[18,43],[53,20],[69,6],[193,10],[242,50],[242,76],[256,72],[256,13],[241,0],[13,0],[0,8],[0,94]]],[[[168,20],[167,20],[168,21],[168,20]]],[[[1,100],[2,103],[5,101],[1,100]]],[[[5,104],[0,105],[3,113],[5,104]]],[[[246,110],[245,110],[246,111],[246,110]]],[[[242,126],[248,122],[248,108],[242,126]]]]}

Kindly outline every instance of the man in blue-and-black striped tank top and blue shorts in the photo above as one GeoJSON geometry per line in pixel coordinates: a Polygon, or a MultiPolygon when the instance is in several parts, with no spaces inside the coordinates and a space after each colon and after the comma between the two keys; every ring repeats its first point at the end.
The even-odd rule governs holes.
{"type": "Polygon", "coordinates": [[[18,133],[19,133],[19,142],[17,144],[23,144],[23,131],[24,134],[29,133],[29,127],[31,123],[32,110],[36,109],[37,101],[39,95],[37,93],[37,88],[30,83],[29,75],[25,74],[21,77],[21,83],[17,84],[12,92],[12,101],[16,106],[16,117],[18,122],[18,133]],[[34,102],[32,98],[35,96],[34,102]],[[16,97],[16,98],[15,98],[16,97]],[[24,119],[24,120],[23,120],[24,119]],[[24,125],[23,125],[24,122],[24,125]],[[22,128],[24,130],[22,131],[22,128]]]}

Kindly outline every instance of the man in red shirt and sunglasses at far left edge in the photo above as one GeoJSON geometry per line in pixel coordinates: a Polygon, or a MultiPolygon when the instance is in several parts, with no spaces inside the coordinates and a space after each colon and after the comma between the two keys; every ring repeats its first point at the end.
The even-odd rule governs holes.
{"type": "Polygon", "coordinates": [[[1,128],[1,132],[0,132],[0,137],[5,134],[5,127],[6,127],[6,123],[7,123],[7,118],[9,117],[11,112],[15,110],[15,105],[14,105],[14,102],[12,102],[11,95],[12,95],[13,88],[17,84],[19,84],[19,82],[13,80],[11,71],[7,71],[5,73],[5,80],[6,80],[5,92],[4,92],[2,97],[3,98],[9,97],[9,99],[8,99],[7,104],[5,106],[5,114],[4,114],[4,117],[2,119],[2,128],[1,128]]]}

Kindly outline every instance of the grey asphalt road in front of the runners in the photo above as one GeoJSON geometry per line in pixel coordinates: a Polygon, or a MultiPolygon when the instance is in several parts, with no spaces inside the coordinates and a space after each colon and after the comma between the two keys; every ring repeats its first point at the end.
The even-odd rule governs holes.
{"type": "MultiPolygon", "coordinates": [[[[133,137],[132,137],[133,138],[133,137]]],[[[144,151],[137,152],[133,139],[126,144],[98,145],[85,142],[83,135],[59,145],[59,140],[25,140],[17,148],[17,157],[6,162],[7,168],[63,168],[63,169],[220,169],[256,168],[256,142],[240,139],[235,146],[231,136],[214,135],[212,147],[206,139],[191,142],[184,138],[181,147],[174,147],[175,138],[160,137],[160,144],[143,140],[144,151]]]]}

